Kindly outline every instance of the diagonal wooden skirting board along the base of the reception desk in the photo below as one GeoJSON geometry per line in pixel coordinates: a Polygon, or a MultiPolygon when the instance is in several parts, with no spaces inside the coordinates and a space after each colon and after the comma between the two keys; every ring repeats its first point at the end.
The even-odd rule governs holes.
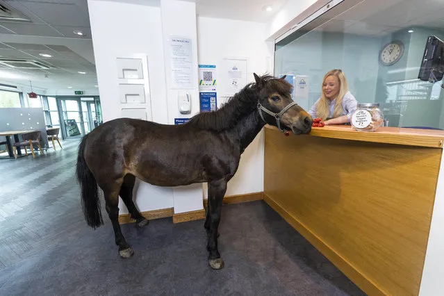
{"type": "Polygon", "coordinates": [[[297,217],[288,213],[282,206],[277,202],[274,202],[272,197],[268,196],[265,192],[263,194],[263,200],[271,206],[274,211],[277,211],[281,217],[283,217],[288,224],[290,224],[297,232],[299,232],[306,240],[308,240],[311,245],[313,245],[319,252],[321,252],[325,257],[331,261],[336,267],[343,272],[349,279],[351,279],[356,286],[359,286],[368,295],[386,295],[375,283],[372,283],[370,279],[367,279],[364,274],[361,274],[350,262],[345,260],[340,254],[336,253],[327,243],[325,243],[320,237],[316,236],[315,233],[311,232],[310,229],[306,228],[304,224],[299,222],[297,217]]]}

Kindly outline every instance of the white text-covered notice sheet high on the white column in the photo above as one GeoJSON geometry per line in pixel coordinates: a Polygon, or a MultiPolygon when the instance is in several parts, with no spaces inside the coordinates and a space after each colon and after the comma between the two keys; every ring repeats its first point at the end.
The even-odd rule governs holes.
{"type": "Polygon", "coordinates": [[[190,38],[170,37],[172,88],[192,88],[192,43],[190,38]]]}

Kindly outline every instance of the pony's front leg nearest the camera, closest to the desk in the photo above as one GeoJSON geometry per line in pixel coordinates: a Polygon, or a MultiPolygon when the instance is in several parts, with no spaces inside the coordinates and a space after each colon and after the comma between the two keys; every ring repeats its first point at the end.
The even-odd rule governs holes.
{"type": "Polygon", "coordinates": [[[217,249],[217,229],[219,228],[220,214],[222,213],[222,201],[227,191],[227,181],[224,179],[211,181],[208,183],[208,216],[206,226],[208,226],[208,245],[206,249],[210,253],[208,264],[215,270],[224,267],[224,261],[220,258],[217,249]]]}

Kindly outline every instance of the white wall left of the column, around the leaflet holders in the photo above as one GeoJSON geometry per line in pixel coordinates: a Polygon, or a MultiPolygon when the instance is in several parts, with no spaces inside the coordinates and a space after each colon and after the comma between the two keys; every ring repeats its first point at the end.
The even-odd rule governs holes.
{"type": "MultiPolygon", "coordinates": [[[[161,8],[141,1],[88,0],[90,23],[104,122],[120,115],[115,59],[132,54],[148,58],[153,121],[167,123],[167,95],[161,8]],[[113,17],[119,15],[120,17],[113,17]]],[[[140,211],[172,208],[172,188],[160,188],[140,182],[135,189],[140,211]]],[[[120,202],[120,213],[127,213],[120,202]]]]}

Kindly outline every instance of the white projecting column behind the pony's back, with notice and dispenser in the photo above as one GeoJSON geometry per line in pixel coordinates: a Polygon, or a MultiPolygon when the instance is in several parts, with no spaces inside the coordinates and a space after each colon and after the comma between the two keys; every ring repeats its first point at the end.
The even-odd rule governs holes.
{"type": "MultiPolygon", "coordinates": [[[[168,122],[174,124],[174,118],[192,117],[192,115],[199,113],[196,4],[188,1],[161,0],[161,13],[167,84],[168,122]],[[192,43],[192,83],[190,88],[176,88],[172,81],[170,39],[173,36],[189,38],[192,43]],[[179,112],[177,104],[177,94],[179,91],[188,92],[191,96],[191,113],[188,115],[182,115],[179,112]]],[[[174,213],[202,210],[202,192],[202,183],[173,188],[174,213]]]]}

